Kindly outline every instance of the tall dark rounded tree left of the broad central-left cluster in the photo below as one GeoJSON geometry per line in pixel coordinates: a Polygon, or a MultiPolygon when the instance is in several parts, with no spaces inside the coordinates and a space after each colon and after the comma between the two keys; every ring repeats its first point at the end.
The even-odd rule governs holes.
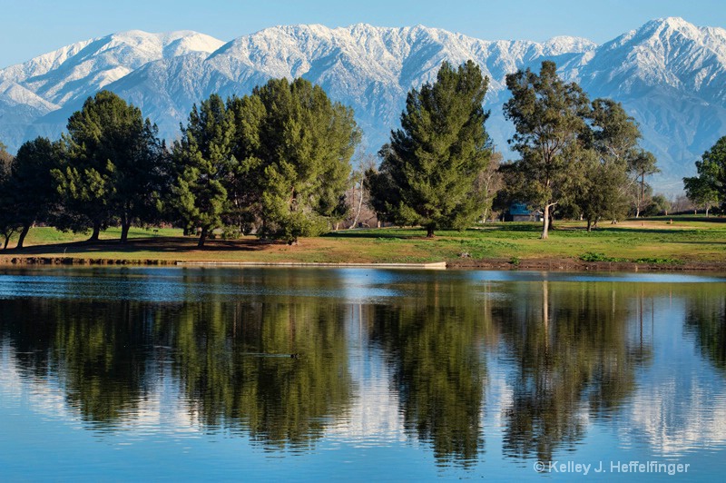
{"type": "Polygon", "coordinates": [[[97,241],[120,221],[125,242],[132,222],[154,218],[165,148],[141,110],[101,91],[68,119],[64,143],[64,163],[53,170],[66,210],[61,228],[90,227],[89,241],[97,241]]]}

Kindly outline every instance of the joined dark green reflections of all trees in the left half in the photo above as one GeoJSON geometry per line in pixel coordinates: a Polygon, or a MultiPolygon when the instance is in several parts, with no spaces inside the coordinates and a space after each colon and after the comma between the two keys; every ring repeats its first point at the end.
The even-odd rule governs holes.
{"type": "Polygon", "coordinates": [[[270,449],[305,448],[351,398],[345,309],[261,300],[6,300],[0,335],[26,375],[57,380],[95,429],[138,417],[171,361],[191,420],[204,429],[247,433],[270,449]]]}

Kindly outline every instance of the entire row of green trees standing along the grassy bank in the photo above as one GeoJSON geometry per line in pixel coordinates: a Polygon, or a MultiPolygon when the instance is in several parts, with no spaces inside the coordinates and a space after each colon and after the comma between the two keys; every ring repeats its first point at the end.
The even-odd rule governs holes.
{"type": "MultiPolygon", "coordinates": [[[[514,162],[502,163],[489,140],[488,79],[469,61],[444,63],[435,82],[412,89],[379,165],[357,170],[353,111],[304,79],[273,79],[226,100],[212,94],[192,107],[171,146],[138,108],[102,91],[69,118],[60,140],[39,137],[15,157],[0,149],[0,234],[6,247],[19,232],[22,248],[37,222],[90,230],[92,241],[121,225],[126,242],[132,225],[171,223],[199,234],[200,246],[219,229],[292,243],[351,212],[357,222],[365,204],[379,221],[433,236],[525,202],[544,216],[546,238],[554,212],[590,229],[664,208],[646,182],[656,160],[638,146],[638,125],[621,104],[590,102],[552,62],[539,74],[509,74],[506,84],[514,162]]],[[[723,202],[722,184],[721,198],[713,194],[717,179],[700,174],[686,187],[694,201],[723,202]]]]}

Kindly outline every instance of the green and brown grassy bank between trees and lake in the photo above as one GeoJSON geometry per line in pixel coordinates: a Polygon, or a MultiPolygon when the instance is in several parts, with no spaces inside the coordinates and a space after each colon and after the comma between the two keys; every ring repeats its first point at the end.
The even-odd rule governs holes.
{"type": "MultiPolygon", "coordinates": [[[[559,222],[548,241],[539,240],[538,223],[493,223],[464,232],[437,232],[427,239],[411,229],[348,230],[302,239],[296,246],[241,240],[196,239],[179,230],[134,229],[130,242],[120,232],[103,232],[102,241],[83,243],[83,235],[35,228],[22,251],[0,252],[3,261],[70,258],[75,261],[260,261],[260,262],[427,262],[464,266],[538,266],[543,261],[572,265],[583,261],[679,266],[726,264],[726,222],[722,219],[668,218],[606,224],[586,232],[581,222],[559,222]]],[[[12,246],[12,245],[11,245],[12,246]]]]}

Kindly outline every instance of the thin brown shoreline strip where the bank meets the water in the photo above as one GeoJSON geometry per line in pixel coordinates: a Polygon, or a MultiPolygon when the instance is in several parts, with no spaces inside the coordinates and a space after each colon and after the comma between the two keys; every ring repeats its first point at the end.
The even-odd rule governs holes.
{"type": "Polygon", "coordinates": [[[567,258],[531,258],[512,262],[504,259],[435,262],[303,262],[303,261],[182,261],[166,259],[114,259],[32,255],[0,255],[0,267],[19,266],[165,266],[165,267],[288,267],[288,268],[378,268],[422,270],[497,271],[695,271],[726,274],[726,261],[691,261],[680,264],[634,261],[581,261],[567,258]]]}

